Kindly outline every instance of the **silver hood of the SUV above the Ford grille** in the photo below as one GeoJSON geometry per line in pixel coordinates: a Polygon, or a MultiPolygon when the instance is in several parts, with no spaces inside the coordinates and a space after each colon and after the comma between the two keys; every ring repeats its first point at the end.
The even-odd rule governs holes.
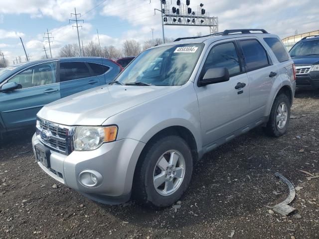
{"type": "Polygon", "coordinates": [[[177,88],[180,86],[106,85],[50,103],[37,116],[65,125],[101,125],[111,116],[177,88]]]}

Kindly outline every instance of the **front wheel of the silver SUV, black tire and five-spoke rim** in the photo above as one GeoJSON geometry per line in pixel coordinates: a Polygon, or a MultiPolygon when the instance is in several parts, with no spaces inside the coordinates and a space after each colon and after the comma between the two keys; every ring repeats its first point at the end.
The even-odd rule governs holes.
{"type": "Polygon", "coordinates": [[[169,135],[151,142],[136,168],[135,198],[156,207],[173,204],[187,189],[192,165],[191,151],[181,137],[169,135]]]}

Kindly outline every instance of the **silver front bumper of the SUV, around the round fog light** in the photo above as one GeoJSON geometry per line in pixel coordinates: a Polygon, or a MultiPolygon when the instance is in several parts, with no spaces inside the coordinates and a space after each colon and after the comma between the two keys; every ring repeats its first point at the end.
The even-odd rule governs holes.
{"type": "MultiPolygon", "coordinates": [[[[42,144],[34,134],[34,154],[34,145],[38,143],[42,144]]],[[[55,180],[90,199],[107,204],[124,203],[130,199],[135,166],[144,145],[138,140],[126,138],[104,143],[96,150],[73,151],[69,155],[50,150],[50,168],[40,162],[38,165],[55,180]],[[102,175],[101,183],[90,188],[82,185],[79,174],[84,170],[99,172],[102,175]]]]}

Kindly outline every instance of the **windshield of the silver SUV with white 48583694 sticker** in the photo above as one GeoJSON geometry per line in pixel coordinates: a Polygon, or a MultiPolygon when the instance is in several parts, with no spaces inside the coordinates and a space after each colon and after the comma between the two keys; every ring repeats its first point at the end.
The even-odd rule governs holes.
{"type": "Polygon", "coordinates": [[[116,79],[123,85],[185,84],[203,49],[202,43],[162,46],[142,52],[116,79]]]}

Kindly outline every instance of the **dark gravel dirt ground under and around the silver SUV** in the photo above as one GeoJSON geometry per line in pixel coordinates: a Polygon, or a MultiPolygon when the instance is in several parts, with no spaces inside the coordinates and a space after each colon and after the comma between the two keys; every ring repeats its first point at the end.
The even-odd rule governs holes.
{"type": "Polygon", "coordinates": [[[208,153],[194,169],[176,211],[95,203],[57,184],[34,162],[32,132],[0,146],[0,238],[319,238],[319,91],[300,90],[289,132],[270,138],[256,128],[208,153]],[[288,217],[271,208],[295,187],[288,217]]]}

